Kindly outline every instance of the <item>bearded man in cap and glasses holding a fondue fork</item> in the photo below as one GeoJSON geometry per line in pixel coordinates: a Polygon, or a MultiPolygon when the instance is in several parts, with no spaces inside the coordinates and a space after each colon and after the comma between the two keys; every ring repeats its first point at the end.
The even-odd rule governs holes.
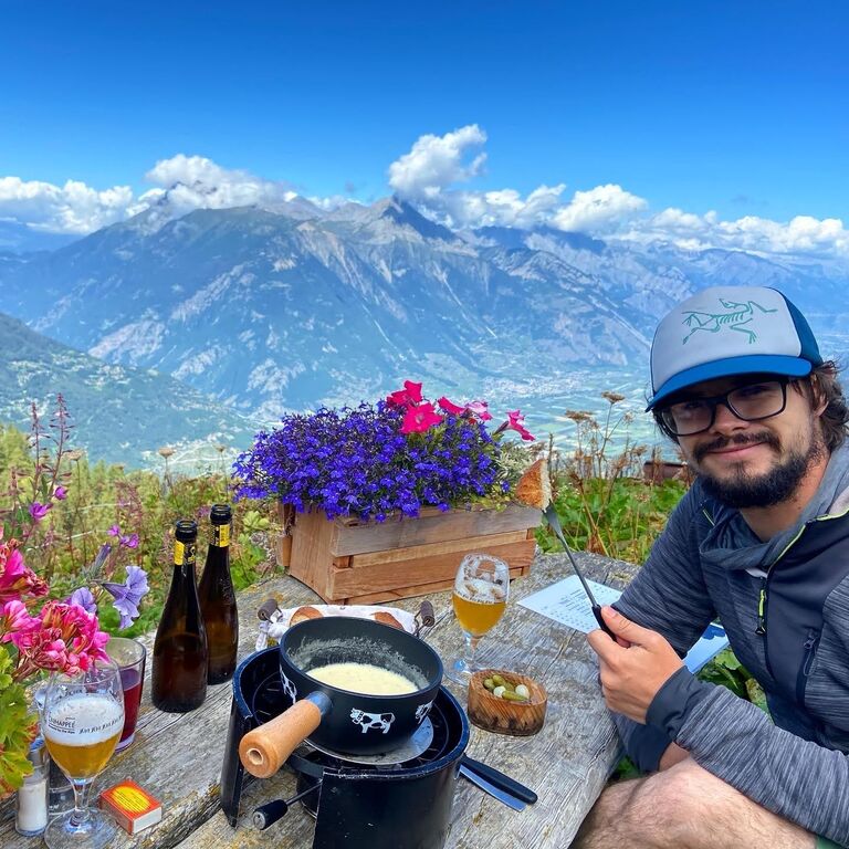
{"type": "Polygon", "coordinates": [[[799,311],[699,292],[660,323],[648,409],[696,481],[589,635],[649,777],[609,787],[575,847],[849,845],[849,413],[799,311]],[[717,617],[769,716],[680,658],[717,617]]]}

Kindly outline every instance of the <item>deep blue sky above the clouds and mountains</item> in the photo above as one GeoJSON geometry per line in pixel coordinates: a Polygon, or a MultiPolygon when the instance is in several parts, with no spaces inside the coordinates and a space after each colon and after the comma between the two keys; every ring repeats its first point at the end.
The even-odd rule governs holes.
{"type": "Polygon", "coordinates": [[[475,125],[440,192],[849,226],[847,24],[841,2],[6,2],[0,218],[108,222],[39,219],[25,187],[138,197],[178,154],[370,201],[422,136],[475,125]]]}

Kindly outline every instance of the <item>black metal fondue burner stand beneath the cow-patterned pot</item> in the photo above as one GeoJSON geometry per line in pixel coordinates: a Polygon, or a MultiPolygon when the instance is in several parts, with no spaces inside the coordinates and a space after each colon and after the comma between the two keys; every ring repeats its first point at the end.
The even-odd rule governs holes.
{"type": "MultiPolygon", "coordinates": [[[[245,780],[259,780],[245,774],[239,743],[249,731],[292,706],[281,683],[279,652],[273,647],[251,656],[233,675],[221,772],[221,807],[233,827],[245,780]]],[[[444,686],[422,727],[397,752],[353,756],[319,751],[307,740],[286,765],[297,775],[302,804],[315,817],[313,849],[442,849],[468,744],[469,722],[444,686]]],[[[285,805],[280,808],[285,810],[285,805]]]]}

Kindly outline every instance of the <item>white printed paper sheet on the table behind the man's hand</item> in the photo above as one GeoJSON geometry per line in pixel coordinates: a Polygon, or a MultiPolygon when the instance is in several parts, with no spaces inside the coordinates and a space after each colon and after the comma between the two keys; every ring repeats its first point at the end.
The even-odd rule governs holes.
{"type": "MultiPolygon", "coordinates": [[[[597,584],[595,580],[588,580],[587,584],[601,606],[612,605],[622,595],[620,590],[597,584]]],[[[577,575],[569,575],[568,578],[523,598],[518,604],[583,633],[598,628],[589,599],[577,575]]],[[[719,625],[710,625],[699,642],[688,652],[684,663],[691,672],[695,672],[727,644],[725,630],[719,625]]]]}

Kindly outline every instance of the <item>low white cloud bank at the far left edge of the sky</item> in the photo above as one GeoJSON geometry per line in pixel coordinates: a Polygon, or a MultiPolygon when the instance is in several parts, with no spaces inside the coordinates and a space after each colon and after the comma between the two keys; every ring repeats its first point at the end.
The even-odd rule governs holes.
{"type": "Polygon", "coordinates": [[[119,221],[132,199],[129,186],[97,191],[77,180],[54,186],[0,177],[0,218],[45,232],[84,234],[98,230],[119,221]]]}

